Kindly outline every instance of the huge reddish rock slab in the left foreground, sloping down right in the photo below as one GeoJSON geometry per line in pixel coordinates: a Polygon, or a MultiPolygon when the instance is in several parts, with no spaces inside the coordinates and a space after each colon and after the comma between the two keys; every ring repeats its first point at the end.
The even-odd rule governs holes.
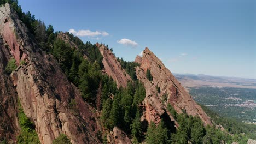
{"type": "MultiPolygon", "coordinates": [[[[0,53],[4,57],[1,56],[1,64],[5,65],[10,55],[14,56],[18,65],[20,61],[26,62],[11,77],[26,116],[36,125],[40,142],[51,143],[64,133],[72,143],[100,143],[96,136],[99,128],[96,116],[91,112],[92,107],[84,102],[78,89],[67,80],[53,56],[39,49],[33,35],[18,19],[15,11],[10,9],[9,4],[0,8],[0,34],[0,44],[9,47],[6,50],[1,45],[0,53]],[[71,107],[69,103],[72,99],[76,104],[71,107]]],[[[4,85],[8,85],[3,86],[1,83],[2,88],[10,89],[4,97],[10,98],[8,104],[13,106],[9,106],[9,109],[16,112],[16,95],[11,92],[15,89],[11,88],[8,77],[2,77],[2,66],[0,72],[0,79],[6,81],[4,85]]],[[[3,115],[14,117],[8,113],[3,115]]],[[[16,119],[14,117],[11,121],[16,119]]],[[[10,136],[17,129],[15,123],[7,123],[14,130],[8,134],[10,136]]]]}

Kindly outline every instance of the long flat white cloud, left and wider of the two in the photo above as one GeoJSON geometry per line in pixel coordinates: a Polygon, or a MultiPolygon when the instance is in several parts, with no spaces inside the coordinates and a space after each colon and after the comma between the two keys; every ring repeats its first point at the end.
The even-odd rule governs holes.
{"type": "Polygon", "coordinates": [[[109,35],[109,33],[105,32],[105,31],[95,31],[92,32],[89,29],[80,29],[78,31],[75,31],[75,29],[69,29],[68,31],[69,33],[72,33],[76,36],[80,36],[80,37],[97,37],[97,36],[107,36],[109,35]]]}

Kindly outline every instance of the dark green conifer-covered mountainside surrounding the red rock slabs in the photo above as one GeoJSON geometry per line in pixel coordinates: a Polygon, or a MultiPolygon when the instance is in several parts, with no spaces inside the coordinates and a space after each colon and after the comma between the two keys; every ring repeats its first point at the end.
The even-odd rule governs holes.
{"type": "MultiPolygon", "coordinates": [[[[47,55],[54,57],[54,59],[51,59],[45,55],[45,57],[48,58],[48,61],[57,62],[56,67],[61,68],[68,81],[72,82],[71,86],[74,85],[74,87],[78,88],[78,93],[80,93],[82,97],[81,100],[85,104],[88,103],[88,107],[92,107],[91,109],[88,108],[88,111],[86,111],[88,113],[92,113],[90,115],[91,117],[88,118],[87,115],[79,117],[82,115],[81,113],[86,112],[79,111],[80,107],[84,105],[80,105],[76,96],[67,92],[67,95],[70,95],[70,97],[68,97],[68,104],[66,104],[66,101],[63,103],[63,105],[68,107],[68,113],[72,113],[70,116],[77,119],[87,118],[89,119],[88,123],[94,122],[91,125],[97,125],[98,131],[94,139],[98,139],[100,141],[95,141],[95,143],[113,143],[114,140],[112,140],[112,138],[117,139],[115,136],[111,137],[111,133],[114,133],[113,129],[115,129],[115,127],[121,129],[121,134],[126,135],[126,138],[128,139],[125,141],[126,143],[246,143],[249,138],[256,139],[255,125],[241,124],[228,118],[221,118],[216,113],[206,109],[204,106],[201,107],[203,107],[203,110],[211,117],[210,123],[213,123],[213,125],[206,125],[207,121],[202,121],[204,117],[201,118],[200,116],[197,116],[197,111],[195,114],[190,112],[194,114],[194,116],[192,114],[190,115],[190,113],[185,109],[186,107],[182,109],[182,112],[177,111],[176,109],[179,108],[177,106],[178,104],[174,106],[171,105],[174,103],[170,100],[172,97],[168,96],[167,90],[164,93],[164,88],[160,88],[160,85],[156,85],[156,87],[154,87],[154,91],[157,92],[155,95],[157,98],[161,98],[161,100],[157,100],[162,104],[159,105],[160,108],[157,107],[157,110],[159,109],[159,111],[162,111],[162,114],[158,117],[160,119],[155,120],[159,123],[153,121],[149,123],[146,120],[143,121],[142,118],[146,113],[145,107],[147,106],[145,104],[145,98],[152,96],[146,95],[145,83],[148,82],[150,86],[153,86],[153,80],[155,79],[153,73],[156,73],[155,71],[150,71],[150,69],[140,69],[143,71],[147,79],[144,80],[143,83],[137,77],[137,73],[139,71],[138,67],[140,66],[139,63],[126,62],[123,58],[117,58],[122,69],[124,69],[132,79],[127,82],[126,87],[117,87],[117,83],[113,78],[104,71],[105,68],[102,63],[103,56],[96,44],[91,44],[90,41],[84,43],[78,37],[75,37],[73,34],[68,32],[63,33],[54,31],[54,27],[52,25],[45,26],[43,20],[36,19],[36,17],[29,11],[26,13],[22,12],[21,7],[18,5],[18,1],[6,0],[0,2],[2,5],[6,2],[11,5],[11,8],[13,8],[18,14],[19,19],[30,31],[31,35],[29,36],[36,39],[39,49],[47,55]],[[60,38],[60,34],[64,34],[66,38],[68,37],[68,41],[60,38]],[[167,107],[167,109],[165,109],[165,107],[167,107]],[[69,110],[71,112],[69,112],[69,110]],[[224,130],[220,129],[220,125],[224,127],[224,130]]],[[[108,45],[99,45],[106,47],[109,51],[108,45]]],[[[112,52],[113,50],[110,51],[112,52]]],[[[40,51],[38,51],[38,53],[40,53],[40,51]]],[[[28,65],[26,61],[20,61],[19,63],[16,62],[15,58],[10,58],[6,65],[5,70],[9,76],[14,77],[11,75],[13,71],[18,67],[22,67],[22,65],[28,65]]],[[[163,66],[158,65],[159,69],[162,67],[163,66]]],[[[53,68],[52,71],[49,71],[53,72],[54,70],[55,69],[53,68]]],[[[42,75],[42,77],[46,76],[42,75]]],[[[38,83],[40,82],[41,81],[38,83]]],[[[63,84],[62,86],[65,85],[63,84]]],[[[173,88],[176,87],[173,86],[173,88]]],[[[40,89],[38,91],[41,92],[40,89]]],[[[72,90],[70,92],[74,91],[75,90],[72,90]]],[[[180,89],[177,88],[173,91],[177,93],[177,95],[172,95],[173,97],[182,97],[183,93],[179,92],[180,89]]],[[[45,97],[45,94],[43,97],[45,97]]],[[[61,99],[60,95],[57,94],[53,97],[56,97],[55,99],[61,99]]],[[[53,101],[51,101],[51,103],[57,103],[53,101]]],[[[155,101],[152,103],[154,102],[155,101]]],[[[40,136],[37,136],[38,134],[36,131],[39,128],[36,128],[36,124],[33,123],[34,119],[29,119],[28,116],[26,116],[22,110],[20,102],[18,102],[18,104],[18,123],[20,133],[17,135],[17,140],[14,141],[14,143],[39,143],[40,136]]],[[[58,103],[55,105],[58,105],[58,103]]],[[[153,107],[150,110],[154,109],[156,108],[153,107]]],[[[54,112],[57,111],[57,109],[54,110],[54,112]]],[[[61,115],[59,116],[60,119],[64,117],[61,113],[59,115],[61,115]]],[[[207,119],[207,117],[205,119],[207,119]]],[[[89,125],[87,125],[88,123],[85,121],[81,125],[84,124],[86,127],[89,127],[89,125]]],[[[79,128],[80,129],[77,131],[87,130],[86,128],[83,129],[82,126],[79,128]]],[[[91,129],[96,129],[96,126],[91,129]]],[[[68,132],[66,133],[68,134],[68,132]]],[[[119,138],[120,136],[118,139],[119,138]]],[[[40,141],[42,142],[42,139],[40,139],[40,141]]],[[[10,141],[0,135],[0,142],[9,143],[10,141]]],[[[53,140],[53,143],[70,142],[76,143],[74,141],[74,137],[68,137],[63,133],[59,134],[56,139],[53,140]]],[[[90,141],[88,140],[88,143],[89,142],[90,141]]]]}

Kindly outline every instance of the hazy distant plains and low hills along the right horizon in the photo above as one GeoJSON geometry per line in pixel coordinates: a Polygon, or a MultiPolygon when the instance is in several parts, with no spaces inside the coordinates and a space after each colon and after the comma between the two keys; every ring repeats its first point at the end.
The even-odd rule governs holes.
{"type": "Polygon", "coordinates": [[[204,74],[176,74],[173,75],[184,87],[236,87],[256,89],[256,79],[240,77],[210,76],[204,74]]]}

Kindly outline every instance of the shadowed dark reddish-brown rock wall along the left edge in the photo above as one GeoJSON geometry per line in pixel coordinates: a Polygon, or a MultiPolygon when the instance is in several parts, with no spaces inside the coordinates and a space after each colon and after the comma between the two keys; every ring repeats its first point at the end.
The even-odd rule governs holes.
{"type": "MultiPolygon", "coordinates": [[[[1,9],[0,9],[1,10],[1,9]]],[[[17,94],[13,83],[5,73],[10,54],[0,36],[0,141],[16,141],[19,134],[17,94]]]]}

